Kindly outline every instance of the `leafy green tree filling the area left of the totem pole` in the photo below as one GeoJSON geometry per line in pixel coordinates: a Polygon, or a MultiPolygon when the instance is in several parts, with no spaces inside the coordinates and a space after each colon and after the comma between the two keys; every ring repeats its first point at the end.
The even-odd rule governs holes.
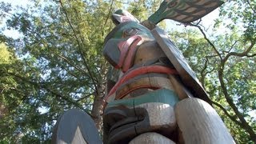
{"type": "Polygon", "coordinates": [[[13,79],[17,89],[1,94],[3,106],[10,106],[1,120],[3,142],[49,142],[58,116],[70,108],[85,110],[101,130],[109,67],[102,46],[114,28],[110,14],[121,6],[113,0],[49,0],[12,7],[13,13],[2,9],[10,16],[6,28],[23,35],[3,40],[18,60],[11,72],[5,67],[1,73],[1,78],[13,79]]]}

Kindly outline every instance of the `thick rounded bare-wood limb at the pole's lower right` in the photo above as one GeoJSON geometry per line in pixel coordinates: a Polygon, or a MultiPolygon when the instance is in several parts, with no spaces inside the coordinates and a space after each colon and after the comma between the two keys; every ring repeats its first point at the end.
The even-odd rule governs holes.
{"type": "Polygon", "coordinates": [[[207,102],[185,98],[174,107],[180,129],[179,139],[186,144],[235,143],[222,119],[207,102]]]}

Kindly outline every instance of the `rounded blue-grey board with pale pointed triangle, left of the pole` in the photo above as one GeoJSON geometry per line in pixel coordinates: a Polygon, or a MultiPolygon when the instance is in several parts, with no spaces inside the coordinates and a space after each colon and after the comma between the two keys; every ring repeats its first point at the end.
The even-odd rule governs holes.
{"type": "Polygon", "coordinates": [[[102,140],[93,119],[82,110],[71,109],[58,118],[52,143],[102,144],[102,140]]]}

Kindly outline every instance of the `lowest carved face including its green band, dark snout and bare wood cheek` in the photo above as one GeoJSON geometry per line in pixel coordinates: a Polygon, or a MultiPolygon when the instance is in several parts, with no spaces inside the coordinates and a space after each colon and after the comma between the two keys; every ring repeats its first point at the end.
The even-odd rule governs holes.
{"type": "Polygon", "coordinates": [[[104,143],[128,143],[149,131],[171,133],[176,125],[172,115],[177,102],[174,91],[166,89],[110,102],[103,115],[104,143]]]}

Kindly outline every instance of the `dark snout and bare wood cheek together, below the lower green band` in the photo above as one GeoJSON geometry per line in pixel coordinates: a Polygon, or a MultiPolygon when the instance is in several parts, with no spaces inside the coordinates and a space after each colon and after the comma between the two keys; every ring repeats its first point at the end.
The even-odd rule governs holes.
{"type": "MultiPolygon", "coordinates": [[[[120,108],[120,107],[119,107],[120,108]]],[[[160,102],[144,103],[123,111],[118,107],[109,112],[109,130],[107,131],[110,143],[122,143],[139,134],[158,131],[159,134],[171,134],[176,128],[174,109],[169,104],[160,102]],[[121,112],[122,111],[122,112],[121,112]],[[121,115],[122,114],[122,115],[121,115]],[[114,121],[110,122],[110,119],[114,121]]]]}

